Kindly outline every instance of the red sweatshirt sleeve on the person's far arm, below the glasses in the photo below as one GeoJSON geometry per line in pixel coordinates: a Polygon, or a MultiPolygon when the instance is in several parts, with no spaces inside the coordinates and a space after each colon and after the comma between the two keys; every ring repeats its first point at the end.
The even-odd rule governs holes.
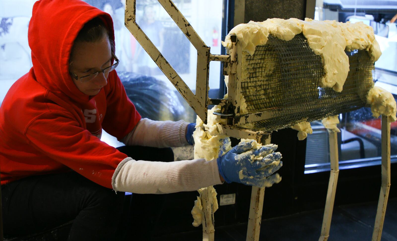
{"type": "Polygon", "coordinates": [[[109,82],[106,95],[106,115],[102,122],[102,128],[121,140],[135,128],[141,120],[141,115],[125,93],[116,71],[110,73],[109,82]]]}

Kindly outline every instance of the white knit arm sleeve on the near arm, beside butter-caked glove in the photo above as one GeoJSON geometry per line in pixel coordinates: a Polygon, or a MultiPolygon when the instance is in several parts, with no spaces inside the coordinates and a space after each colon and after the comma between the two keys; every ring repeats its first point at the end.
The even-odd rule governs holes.
{"type": "Polygon", "coordinates": [[[131,193],[175,193],[222,184],[216,159],[174,162],[135,161],[125,158],[117,166],[112,187],[131,193]]]}

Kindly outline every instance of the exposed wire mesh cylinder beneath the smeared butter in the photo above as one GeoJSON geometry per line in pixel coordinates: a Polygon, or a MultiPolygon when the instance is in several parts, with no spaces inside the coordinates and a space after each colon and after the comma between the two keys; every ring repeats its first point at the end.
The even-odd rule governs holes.
{"type": "Polygon", "coordinates": [[[320,88],[324,76],[320,55],[303,34],[284,41],[269,35],[253,55],[243,52],[241,94],[248,113],[270,111],[272,118],[252,123],[254,129],[278,130],[359,109],[374,85],[374,62],[366,50],[346,52],[350,70],[342,92],[320,88]]]}

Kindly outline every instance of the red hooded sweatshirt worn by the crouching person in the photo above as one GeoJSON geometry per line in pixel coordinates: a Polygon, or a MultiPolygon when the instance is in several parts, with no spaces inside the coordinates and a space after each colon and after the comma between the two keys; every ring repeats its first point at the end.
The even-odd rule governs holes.
{"type": "Polygon", "coordinates": [[[28,33],[33,67],[0,107],[1,184],[74,170],[112,188],[114,170],[127,156],[98,137],[103,128],[121,140],[141,116],[116,71],[96,96],[80,92],[69,75],[73,41],[94,17],[102,18],[114,41],[110,15],[85,2],[40,0],[33,6],[28,33]]]}

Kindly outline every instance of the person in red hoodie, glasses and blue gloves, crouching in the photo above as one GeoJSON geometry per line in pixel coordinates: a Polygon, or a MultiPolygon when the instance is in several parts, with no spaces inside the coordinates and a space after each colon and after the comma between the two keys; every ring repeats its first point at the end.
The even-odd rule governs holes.
{"type": "Polygon", "coordinates": [[[74,220],[69,240],[111,240],[124,191],[160,194],[224,180],[277,182],[268,177],[281,166],[276,146],[254,150],[243,142],[212,161],[150,162],[101,142],[103,128],[127,147],[142,146],[129,149],[133,156],[131,150],[191,144],[194,129],[183,121],[141,119],[114,71],[119,60],[107,13],[80,0],[39,0],[28,38],[33,67],[13,84],[0,108],[6,235],[74,220]],[[267,161],[252,161],[254,156],[267,161]],[[241,170],[252,178],[239,178],[241,170]]]}

